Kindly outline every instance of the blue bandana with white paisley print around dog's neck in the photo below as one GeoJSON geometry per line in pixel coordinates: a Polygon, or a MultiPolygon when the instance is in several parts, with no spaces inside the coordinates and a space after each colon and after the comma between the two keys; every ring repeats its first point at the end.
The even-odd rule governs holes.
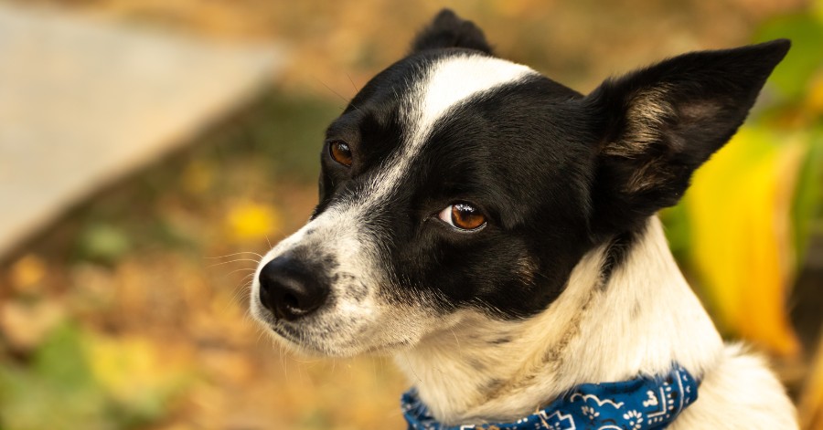
{"type": "Polygon", "coordinates": [[[666,428],[697,400],[697,389],[698,381],[686,369],[675,366],[665,376],[583,383],[515,423],[442,425],[414,388],[403,394],[402,407],[409,430],[657,430],[666,428]]]}

